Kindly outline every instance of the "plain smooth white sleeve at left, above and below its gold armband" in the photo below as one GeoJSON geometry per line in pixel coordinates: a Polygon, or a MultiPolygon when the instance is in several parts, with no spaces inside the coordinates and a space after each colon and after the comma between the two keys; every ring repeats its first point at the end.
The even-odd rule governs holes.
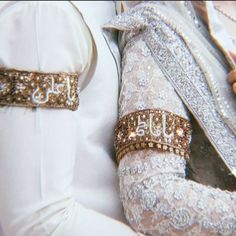
{"type": "MultiPolygon", "coordinates": [[[[69,2],[0,4],[1,67],[87,73],[92,52],[69,2]]],[[[67,109],[0,107],[1,236],[136,235],[74,200],[76,116],[67,109]]]]}

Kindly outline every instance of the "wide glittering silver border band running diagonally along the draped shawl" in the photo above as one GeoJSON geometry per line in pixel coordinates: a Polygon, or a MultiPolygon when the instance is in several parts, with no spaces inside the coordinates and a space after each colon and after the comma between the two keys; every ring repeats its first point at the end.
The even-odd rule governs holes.
{"type": "MultiPolygon", "coordinates": [[[[144,36],[155,60],[185,104],[195,114],[199,124],[207,131],[208,138],[214,143],[228,168],[233,174],[236,174],[235,136],[218,113],[207,82],[204,80],[204,77],[208,75],[204,75],[187,46],[190,41],[181,32],[176,32],[177,29],[166,22],[159,12],[154,13],[148,9],[145,14],[151,15],[155,19],[153,22],[155,31],[147,30],[144,36]],[[168,37],[164,36],[165,32],[168,32],[168,37]],[[171,45],[174,42],[178,42],[182,49],[178,56],[172,52],[171,45]],[[180,56],[182,57],[181,61],[180,56]],[[183,64],[184,61],[185,64],[183,64]],[[196,83],[193,84],[192,81],[196,81],[196,83]]],[[[196,53],[196,55],[198,54],[196,53]]],[[[197,56],[197,60],[202,61],[200,55],[197,56]]]]}

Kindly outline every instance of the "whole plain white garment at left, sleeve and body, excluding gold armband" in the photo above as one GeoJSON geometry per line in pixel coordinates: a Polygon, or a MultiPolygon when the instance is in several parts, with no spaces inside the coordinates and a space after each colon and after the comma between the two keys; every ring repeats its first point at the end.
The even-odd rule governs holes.
{"type": "MultiPolygon", "coordinates": [[[[79,109],[0,107],[1,236],[136,235],[120,222],[113,158],[118,73],[101,25],[115,14],[114,3],[77,6],[98,53],[79,109]]],[[[0,3],[0,66],[83,70],[90,51],[81,27],[67,1],[0,3]]]]}

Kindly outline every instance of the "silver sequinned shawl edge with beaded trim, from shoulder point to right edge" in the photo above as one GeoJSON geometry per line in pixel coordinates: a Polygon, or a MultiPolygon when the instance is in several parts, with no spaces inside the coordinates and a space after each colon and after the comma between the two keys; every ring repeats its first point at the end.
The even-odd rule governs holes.
{"type": "MultiPolygon", "coordinates": [[[[137,16],[138,22],[145,22],[140,27],[141,34],[157,65],[205,131],[230,172],[236,177],[236,139],[226,124],[227,103],[224,105],[225,108],[222,101],[218,103],[218,100],[222,99],[209,66],[181,28],[152,4],[139,4],[111,24],[118,29],[129,27],[124,22],[129,22],[131,14],[137,16]],[[141,21],[141,18],[145,20],[141,21]],[[211,90],[208,82],[211,84],[211,90]]],[[[137,30],[134,27],[130,28],[137,30]]]]}

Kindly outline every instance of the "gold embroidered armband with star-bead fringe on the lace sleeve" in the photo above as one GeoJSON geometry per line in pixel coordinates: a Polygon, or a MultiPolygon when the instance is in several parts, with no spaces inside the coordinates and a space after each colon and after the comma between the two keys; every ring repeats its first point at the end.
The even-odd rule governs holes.
{"type": "Polygon", "coordinates": [[[189,158],[190,122],[164,110],[142,110],[120,119],[115,129],[117,161],[130,152],[156,149],[189,158]]]}

